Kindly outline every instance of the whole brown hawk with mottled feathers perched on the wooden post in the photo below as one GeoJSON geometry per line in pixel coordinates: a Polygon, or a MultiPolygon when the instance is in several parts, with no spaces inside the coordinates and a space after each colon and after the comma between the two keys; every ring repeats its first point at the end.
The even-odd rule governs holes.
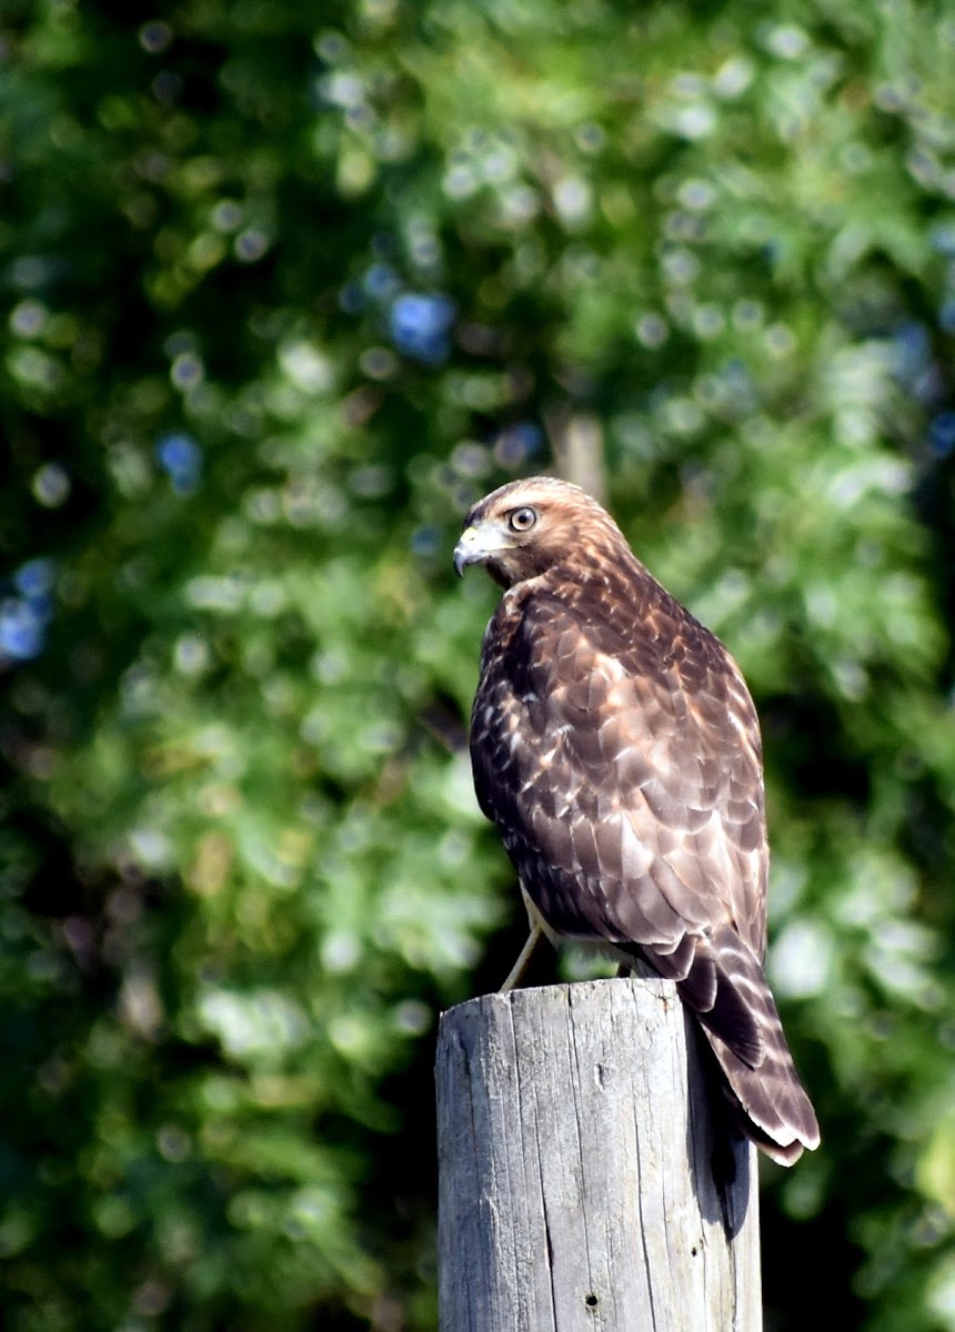
{"type": "MultiPolygon", "coordinates": [[[[503,595],[470,751],[531,932],[677,983],[742,1131],[790,1166],[819,1144],[763,972],[769,848],[759,723],[723,645],[578,486],[534,477],[477,503],[454,547],[503,595]]],[[[626,974],[626,972],[625,972],[626,974]]]]}

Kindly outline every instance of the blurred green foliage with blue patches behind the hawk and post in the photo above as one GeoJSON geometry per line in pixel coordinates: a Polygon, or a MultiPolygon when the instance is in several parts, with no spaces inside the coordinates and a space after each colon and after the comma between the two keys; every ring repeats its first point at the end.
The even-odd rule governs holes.
{"type": "Polygon", "coordinates": [[[434,1327],[434,1018],[519,935],[449,554],[583,433],[763,717],[767,1325],[955,1328],[951,8],[7,0],[0,59],[5,1325],[434,1327]]]}

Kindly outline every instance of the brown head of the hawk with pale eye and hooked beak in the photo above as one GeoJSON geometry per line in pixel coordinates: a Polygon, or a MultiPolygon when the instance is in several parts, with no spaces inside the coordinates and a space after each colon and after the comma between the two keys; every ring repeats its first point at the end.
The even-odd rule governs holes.
{"type": "Polygon", "coordinates": [[[485,496],[465,518],[454,567],[486,565],[502,587],[557,565],[578,571],[607,557],[630,555],[623,535],[595,500],[557,477],[511,481],[485,496]]]}

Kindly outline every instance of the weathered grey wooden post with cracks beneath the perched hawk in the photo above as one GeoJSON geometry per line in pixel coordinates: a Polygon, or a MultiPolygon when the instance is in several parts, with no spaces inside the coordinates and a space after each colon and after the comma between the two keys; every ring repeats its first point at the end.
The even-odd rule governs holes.
{"type": "Polygon", "coordinates": [[[458,1004],[437,1087],[441,1332],[759,1332],[755,1150],[714,1183],[730,1134],[671,982],[458,1004]]]}

